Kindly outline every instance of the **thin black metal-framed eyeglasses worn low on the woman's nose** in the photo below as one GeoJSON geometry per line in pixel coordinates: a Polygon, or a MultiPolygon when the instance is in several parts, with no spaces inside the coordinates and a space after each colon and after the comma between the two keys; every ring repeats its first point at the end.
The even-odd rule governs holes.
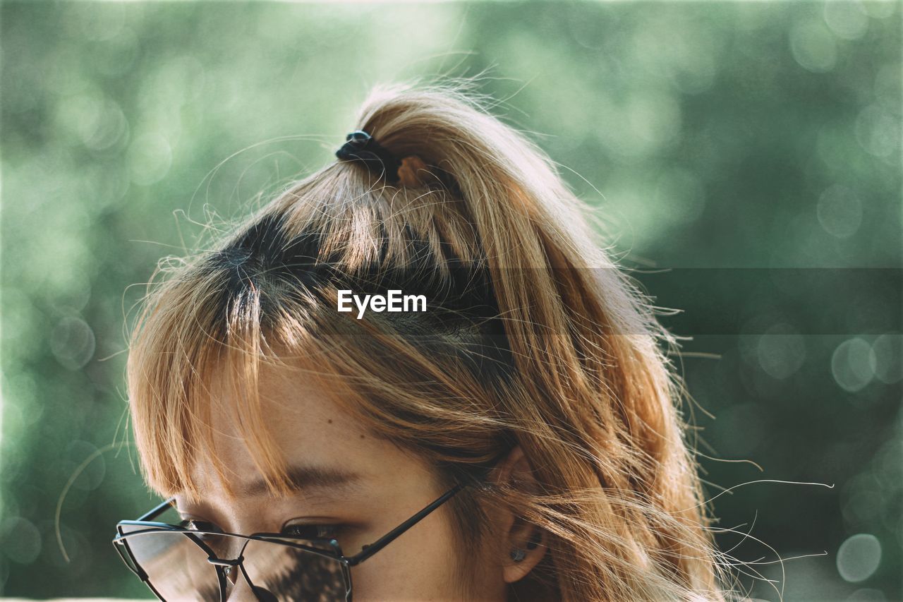
{"type": "Polygon", "coordinates": [[[175,498],[135,521],[116,523],[113,545],[129,569],[166,602],[236,599],[351,602],[351,570],[457,494],[457,484],[420,512],[347,557],[330,537],[239,535],[154,522],[175,498]]]}

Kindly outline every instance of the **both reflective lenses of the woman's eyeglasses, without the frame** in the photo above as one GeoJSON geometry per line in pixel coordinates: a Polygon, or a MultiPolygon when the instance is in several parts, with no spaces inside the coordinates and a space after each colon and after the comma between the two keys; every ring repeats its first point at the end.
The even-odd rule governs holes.
{"type": "MultiPolygon", "coordinates": [[[[128,535],[146,529],[123,525],[128,535]]],[[[209,562],[209,552],[219,559],[243,558],[239,567],[228,569],[225,587],[228,599],[265,602],[344,602],[346,586],[339,560],[272,541],[248,540],[216,533],[152,531],[126,537],[126,545],[135,562],[147,573],[148,581],[167,602],[219,602],[219,576],[209,562]],[[233,585],[234,581],[234,585],[233,585]],[[234,591],[232,591],[234,589],[234,591]],[[247,592],[247,596],[239,595],[247,592]]],[[[286,539],[284,541],[295,541],[286,539]]],[[[326,544],[303,541],[318,550],[330,550],[326,544]]]]}

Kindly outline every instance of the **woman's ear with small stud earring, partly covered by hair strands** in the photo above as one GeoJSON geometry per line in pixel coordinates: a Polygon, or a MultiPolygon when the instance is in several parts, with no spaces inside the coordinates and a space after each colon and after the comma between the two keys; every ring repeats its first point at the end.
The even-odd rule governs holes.
{"type": "MultiPolygon", "coordinates": [[[[499,463],[493,475],[497,484],[515,484],[517,489],[535,492],[537,489],[535,475],[527,462],[524,450],[517,446],[499,463]]],[[[524,578],[540,560],[546,550],[545,531],[525,522],[509,511],[502,511],[498,516],[498,535],[501,537],[499,553],[506,583],[514,583],[524,578]]]]}

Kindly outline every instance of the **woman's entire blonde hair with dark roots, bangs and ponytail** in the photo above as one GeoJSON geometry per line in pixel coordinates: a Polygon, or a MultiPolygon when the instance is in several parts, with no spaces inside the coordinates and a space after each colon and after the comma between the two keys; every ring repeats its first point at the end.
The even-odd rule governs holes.
{"type": "Polygon", "coordinates": [[[551,159],[488,107],[467,80],[378,86],[354,128],[419,157],[416,182],[333,161],[209,249],[161,262],[154,277],[169,277],[152,277],[127,366],[144,477],[197,499],[191,466],[207,455],[233,494],[210,422],[223,378],[256,466],[287,492],[257,394],[267,363],[319,384],[443,484],[479,485],[450,502],[460,556],[492,535],[490,507],[545,531],[511,599],[721,600],[686,390],[665,353],[675,339],[551,159]],[[340,290],[390,289],[428,311],[337,311],[340,290]],[[490,483],[516,445],[536,484],[490,483]]]}

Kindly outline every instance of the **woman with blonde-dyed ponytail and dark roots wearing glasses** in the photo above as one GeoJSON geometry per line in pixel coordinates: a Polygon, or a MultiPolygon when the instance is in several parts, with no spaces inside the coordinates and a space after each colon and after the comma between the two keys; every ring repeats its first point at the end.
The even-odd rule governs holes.
{"type": "Polygon", "coordinates": [[[131,568],[164,599],[723,599],[674,340],[551,160],[450,84],[378,87],[337,155],[144,300],[143,518],[182,522],[121,523],[131,568]]]}

